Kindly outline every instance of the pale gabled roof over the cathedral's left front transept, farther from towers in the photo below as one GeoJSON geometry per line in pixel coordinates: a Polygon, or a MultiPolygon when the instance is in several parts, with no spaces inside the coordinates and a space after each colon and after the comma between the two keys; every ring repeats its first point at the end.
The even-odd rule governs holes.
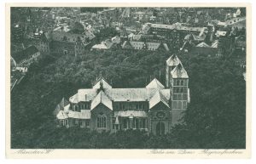
{"type": "Polygon", "coordinates": [[[103,91],[100,91],[100,93],[96,95],[96,98],[92,100],[90,110],[95,109],[96,106],[101,103],[102,105],[107,106],[108,109],[113,110],[111,99],[109,99],[103,91]]]}

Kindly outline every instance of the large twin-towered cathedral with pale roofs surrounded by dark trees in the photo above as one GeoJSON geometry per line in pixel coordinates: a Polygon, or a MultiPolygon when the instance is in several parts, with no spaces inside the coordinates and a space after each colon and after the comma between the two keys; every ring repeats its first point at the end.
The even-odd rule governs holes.
{"type": "Polygon", "coordinates": [[[113,88],[101,77],[92,88],[61,99],[54,113],[58,127],[111,133],[141,129],[161,135],[182,122],[189,101],[188,73],[173,54],[166,60],[166,86],[154,78],[145,88],[113,88]]]}

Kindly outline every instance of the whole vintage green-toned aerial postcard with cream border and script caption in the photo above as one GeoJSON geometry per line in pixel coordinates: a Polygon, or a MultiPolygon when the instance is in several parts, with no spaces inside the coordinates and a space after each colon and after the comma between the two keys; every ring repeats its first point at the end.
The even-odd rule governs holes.
{"type": "Polygon", "coordinates": [[[7,8],[13,155],[249,149],[247,5],[7,8]]]}

